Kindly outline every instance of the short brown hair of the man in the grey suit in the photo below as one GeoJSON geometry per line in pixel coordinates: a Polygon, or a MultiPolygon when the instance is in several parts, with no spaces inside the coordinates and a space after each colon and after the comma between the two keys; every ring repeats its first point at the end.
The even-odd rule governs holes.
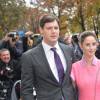
{"type": "Polygon", "coordinates": [[[40,18],[39,25],[41,28],[43,28],[45,23],[53,22],[55,20],[58,22],[58,25],[59,25],[59,19],[56,16],[47,14],[40,18]]]}

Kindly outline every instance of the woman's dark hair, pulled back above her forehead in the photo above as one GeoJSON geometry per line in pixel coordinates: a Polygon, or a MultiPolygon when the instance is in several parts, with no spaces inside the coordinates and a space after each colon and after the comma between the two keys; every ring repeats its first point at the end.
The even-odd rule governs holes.
{"type": "Polygon", "coordinates": [[[85,38],[88,36],[93,36],[97,41],[97,37],[96,37],[96,34],[94,32],[84,31],[84,32],[80,33],[80,35],[79,35],[79,42],[82,44],[84,42],[85,38]]]}

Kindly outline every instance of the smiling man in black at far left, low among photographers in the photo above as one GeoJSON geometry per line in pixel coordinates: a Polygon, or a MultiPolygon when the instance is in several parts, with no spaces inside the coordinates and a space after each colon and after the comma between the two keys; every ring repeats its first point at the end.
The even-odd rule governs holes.
{"type": "Polygon", "coordinates": [[[12,86],[21,76],[20,65],[11,59],[8,49],[0,50],[0,100],[10,100],[12,86]]]}

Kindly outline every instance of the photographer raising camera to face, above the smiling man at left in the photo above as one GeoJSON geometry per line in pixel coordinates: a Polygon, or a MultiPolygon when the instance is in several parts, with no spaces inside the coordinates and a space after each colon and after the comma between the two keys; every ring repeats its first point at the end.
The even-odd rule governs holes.
{"type": "MultiPolygon", "coordinates": [[[[2,40],[1,49],[7,48],[10,51],[11,57],[13,59],[19,59],[23,53],[23,48],[18,47],[17,33],[10,32],[6,34],[2,40]],[[17,43],[17,45],[16,45],[17,43]]],[[[21,44],[22,45],[22,44],[21,44]]],[[[23,47],[23,46],[22,46],[23,47]]]]}

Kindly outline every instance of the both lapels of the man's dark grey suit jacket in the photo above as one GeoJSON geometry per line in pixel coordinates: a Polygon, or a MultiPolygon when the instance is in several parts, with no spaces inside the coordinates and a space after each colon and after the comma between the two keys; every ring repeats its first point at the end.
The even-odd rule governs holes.
{"type": "MultiPolygon", "coordinates": [[[[66,60],[66,65],[67,65],[67,68],[66,68],[66,73],[65,73],[65,76],[64,76],[64,81],[66,81],[67,77],[68,77],[68,74],[69,74],[69,71],[70,71],[70,67],[71,67],[71,57],[69,55],[69,49],[66,49],[65,48],[65,45],[63,46],[62,44],[60,44],[60,47],[64,53],[64,57],[65,57],[65,60],[66,60]]],[[[48,72],[48,75],[49,75],[49,78],[51,78],[54,82],[54,84],[56,83],[57,85],[59,85],[59,82],[56,80],[54,74],[52,73],[51,71],[51,68],[49,66],[49,63],[47,61],[47,58],[46,58],[46,55],[45,55],[45,52],[44,52],[44,49],[42,47],[42,44],[38,45],[37,47],[37,55],[35,58],[37,58],[37,60],[39,60],[40,62],[40,65],[42,63],[42,66],[43,66],[43,69],[45,72],[48,72]],[[39,55],[39,56],[38,56],[39,55]]],[[[63,81],[63,83],[64,83],[63,81]]]]}

